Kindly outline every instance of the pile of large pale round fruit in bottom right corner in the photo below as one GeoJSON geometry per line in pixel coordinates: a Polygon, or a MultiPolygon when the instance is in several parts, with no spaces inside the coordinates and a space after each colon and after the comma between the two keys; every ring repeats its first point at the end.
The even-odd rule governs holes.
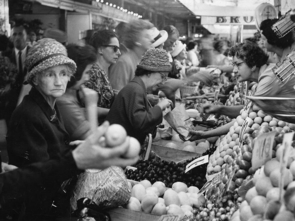
{"type": "MultiPolygon", "coordinates": [[[[254,186],[248,190],[232,221],[295,220],[295,161],[288,160],[283,172],[283,200],[279,199],[280,159],[283,147],[276,151],[276,158],[267,161],[253,176],[254,186]]],[[[292,154],[291,154],[292,155],[292,154]]],[[[294,153],[293,153],[294,155],[294,153]]]]}

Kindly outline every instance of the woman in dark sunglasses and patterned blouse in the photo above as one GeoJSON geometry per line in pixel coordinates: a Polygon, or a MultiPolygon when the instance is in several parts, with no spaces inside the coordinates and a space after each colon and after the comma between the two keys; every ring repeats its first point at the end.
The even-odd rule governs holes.
{"type": "Polygon", "coordinates": [[[99,30],[91,36],[89,44],[96,50],[98,59],[89,70],[89,80],[85,82],[85,86],[98,93],[98,111],[100,116],[106,116],[114,102],[114,90],[109,81],[108,69],[121,55],[119,40],[115,32],[99,30]]]}

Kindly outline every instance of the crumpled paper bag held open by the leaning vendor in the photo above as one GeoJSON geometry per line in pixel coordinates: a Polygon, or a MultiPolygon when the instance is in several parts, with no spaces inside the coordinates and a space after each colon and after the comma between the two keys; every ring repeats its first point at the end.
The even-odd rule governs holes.
{"type": "Polygon", "coordinates": [[[187,141],[191,138],[192,135],[189,130],[193,130],[194,125],[185,110],[184,104],[176,106],[164,118],[183,140],[187,141]]]}

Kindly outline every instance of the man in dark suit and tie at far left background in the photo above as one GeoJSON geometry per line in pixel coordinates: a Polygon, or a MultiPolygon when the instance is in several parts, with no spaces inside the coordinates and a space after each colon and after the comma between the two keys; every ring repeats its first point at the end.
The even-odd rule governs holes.
{"type": "Polygon", "coordinates": [[[24,61],[27,57],[29,47],[27,46],[27,31],[23,26],[14,26],[11,29],[11,42],[14,44],[14,48],[6,52],[5,56],[9,57],[10,61],[14,63],[18,70],[18,75],[14,85],[11,86],[6,100],[5,108],[5,121],[6,125],[10,121],[12,112],[16,108],[19,93],[24,82],[24,77],[27,74],[24,61]]]}

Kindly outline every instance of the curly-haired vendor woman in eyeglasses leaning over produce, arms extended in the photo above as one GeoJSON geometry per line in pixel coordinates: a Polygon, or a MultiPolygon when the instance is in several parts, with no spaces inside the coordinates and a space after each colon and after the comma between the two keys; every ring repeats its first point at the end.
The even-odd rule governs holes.
{"type": "MultiPolygon", "coordinates": [[[[295,97],[295,75],[291,75],[281,82],[273,72],[275,64],[267,63],[268,55],[257,44],[250,41],[239,43],[231,47],[229,54],[233,57],[233,72],[237,75],[238,82],[254,81],[258,83],[252,95],[282,98],[295,97]]],[[[240,115],[242,108],[243,105],[207,105],[204,106],[204,112],[220,113],[236,118],[240,115]]],[[[211,131],[190,131],[194,134],[191,140],[227,134],[233,123],[234,121],[211,131]]]]}

